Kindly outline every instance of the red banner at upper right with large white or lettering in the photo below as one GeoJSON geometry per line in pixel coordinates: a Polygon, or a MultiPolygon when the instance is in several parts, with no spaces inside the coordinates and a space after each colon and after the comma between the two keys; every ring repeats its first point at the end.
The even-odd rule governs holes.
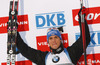
{"type": "MultiPolygon", "coordinates": [[[[88,24],[99,24],[100,23],[100,7],[87,8],[87,10],[88,10],[86,13],[87,23],[88,24]]],[[[78,12],[79,12],[79,9],[72,10],[74,26],[79,25],[78,12]]]]}

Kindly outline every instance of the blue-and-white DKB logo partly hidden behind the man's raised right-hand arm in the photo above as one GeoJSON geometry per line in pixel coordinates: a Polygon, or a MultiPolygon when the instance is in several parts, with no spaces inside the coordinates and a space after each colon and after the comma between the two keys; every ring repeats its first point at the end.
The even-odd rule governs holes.
{"type": "MultiPolygon", "coordinates": [[[[76,40],[80,37],[80,34],[76,34],[76,40]]],[[[100,31],[90,32],[91,41],[88,47],[100,46],[100,31]]]]}

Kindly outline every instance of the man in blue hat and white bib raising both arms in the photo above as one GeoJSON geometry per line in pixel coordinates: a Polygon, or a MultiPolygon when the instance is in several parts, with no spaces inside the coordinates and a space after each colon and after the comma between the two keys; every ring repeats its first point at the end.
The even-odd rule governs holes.
{"type": "MultiPolygon", "coordinates": [[[[80,9],[80,12],[82,9],[80,9]]],[[[84,11],[84,10],[83,10],[84,11]]],[[[79,12],[79,23],[81,16],[79,12]]],[[[80,25],[81,27],[81,25],[80,25]]],[[[81,28],[80,28],[81,29],[81,28]]],[[[87,22],[85,20],[85,31],[86,31],[86,47],[90,42],[90,34],[87,22]]],[[[82,31],[80,30],[82,33],[82,31]]],[[[36,63],[37,65],[67,65],[67,64],[77,64],[77,61],[83,54],[83,43],[82,43],[82,34],[80,34],[80,38],[73,43],[72,46],[67,48],[63,47],[62,37],[56,28],[50,28],[47,32],[47,42],[50,47],[50,52],[42,52],[33,48],[30,48],[20,37],[19,33],[17,35],[17,48],[19,52],[36,63]]]]}

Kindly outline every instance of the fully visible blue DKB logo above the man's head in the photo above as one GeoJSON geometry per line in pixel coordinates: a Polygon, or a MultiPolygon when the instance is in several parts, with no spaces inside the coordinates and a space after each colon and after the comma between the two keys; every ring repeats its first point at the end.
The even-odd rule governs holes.
{"type": "Polygon", "coordinates": [[[36,18],[36,27],[38,29],[60,27],[64,26],[65,24],[64,11],[36,14],[35,18],[36,18]]]}

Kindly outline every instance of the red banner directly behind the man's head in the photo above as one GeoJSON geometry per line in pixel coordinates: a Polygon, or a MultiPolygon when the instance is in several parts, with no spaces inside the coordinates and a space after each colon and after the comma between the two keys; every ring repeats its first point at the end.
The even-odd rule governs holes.
{"type": "MultiPolygon", "coordinates": [[[[63,45],[64,47],[68,47],[68,34],[62,34],[62,39],[63,39],[63,45]]],[[[41,50],[41,51],[50,51],[49,49],[49,45],[47,43],[47,36],[37,36],[36,37],[36,41],[37,41],[37,49],[41,50]]]]}

